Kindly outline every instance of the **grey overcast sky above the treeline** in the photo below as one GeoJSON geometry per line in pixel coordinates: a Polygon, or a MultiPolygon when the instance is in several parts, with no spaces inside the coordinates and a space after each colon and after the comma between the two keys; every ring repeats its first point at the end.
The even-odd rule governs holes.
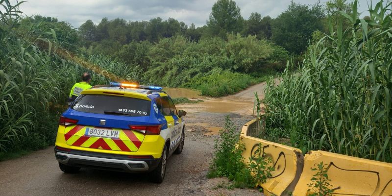
{"type": "MultiPolygon", "coordinates": [[[[241,15],[248,19],[252,12],[275,18],[285,11],[290,0],[235,0],[241,15]]],[[[294,0],[314,4],[317,0],[294,0]]],[[[325,3],[326,0],[321,0],[325,3]]],[[[377,0],[373,0],[377,1],[377,0]]],[[[174,18],[196,27],[206,24],[215,0],[27,0],[20,6],[25,15],[35,14],[58,18],[75,28],[91,19],[98,24],[103,17],[109,20],[148,21],[160,17],[174,18]]],[[[367,0],[359,0],[359,11],[367,10],[367,0]]],[[[368,15],[368,14],[363,14],[368,15]]]]}

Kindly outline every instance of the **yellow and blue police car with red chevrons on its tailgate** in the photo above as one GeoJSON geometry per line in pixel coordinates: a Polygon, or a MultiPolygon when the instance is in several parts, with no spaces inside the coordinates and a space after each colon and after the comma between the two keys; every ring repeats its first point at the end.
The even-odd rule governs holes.
{"type": "Polygon", "coordinates": [[[149,172],[161,183],[184,147],[186,112],[161,87],[127,83],[84,90],[62,114],[55,156],[63,172],[149,172]]]}

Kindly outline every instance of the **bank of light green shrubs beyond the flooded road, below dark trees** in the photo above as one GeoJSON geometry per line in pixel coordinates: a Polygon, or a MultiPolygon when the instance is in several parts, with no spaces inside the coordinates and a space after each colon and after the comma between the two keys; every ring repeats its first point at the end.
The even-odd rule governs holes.
{"type": "Polygon", "coordinates": [[[182,36],[161,39],[149,50],[151,65],[146,77],[153,84],[191,87],[207,96],[233,94],[260,81],[244,73],[259,70],[261,75],[255,75],[257,78],[270,73],[261,69],[275,62],[270,57],[274,49],[274,58],[286,58],[284,49],[254,36],[228,35],[227,41],[215,37],[198,43],[182,36]]]}

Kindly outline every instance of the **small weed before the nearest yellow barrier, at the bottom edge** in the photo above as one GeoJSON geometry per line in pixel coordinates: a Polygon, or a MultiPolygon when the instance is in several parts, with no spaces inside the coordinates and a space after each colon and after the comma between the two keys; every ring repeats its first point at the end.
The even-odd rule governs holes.
{"type": "Polygon", "coordinates": [[[311,183],[308,184],[308,192],[311,192],[309,196],[332,196],[334,190],[330,189],[332,185],[329,183],[331,180],[328,177],[328,168],[325,168],[326,164],[317,164],[317,168],[312,168],[312,171],[317,171],[310,179],[311,183]]]}

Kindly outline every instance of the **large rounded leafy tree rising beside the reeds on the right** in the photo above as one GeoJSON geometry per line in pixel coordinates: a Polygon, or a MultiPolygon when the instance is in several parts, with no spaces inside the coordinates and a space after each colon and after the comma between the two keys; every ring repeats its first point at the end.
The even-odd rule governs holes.
{"type": "Polygon", "coordinates": [[[312,33],[323,29],[323,18],[325,13],[319,2],[309,8],[292,1],[272,23],[271,39],[289,52],[300,54],[307,49],[312,33]]]}

